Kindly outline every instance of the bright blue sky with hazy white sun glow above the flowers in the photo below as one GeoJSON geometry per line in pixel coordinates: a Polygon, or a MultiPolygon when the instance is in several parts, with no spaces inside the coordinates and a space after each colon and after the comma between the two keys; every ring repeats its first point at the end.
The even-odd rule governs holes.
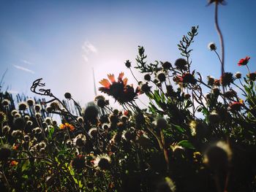
{"type": "MultiPolygon", "coordinates": [[[[45,88],[64,98],[67,91],[80,104],[94,99],[94,69],[99,80],[124,72],[124,66],[145,47],[148,62],[181,58],[177,44],[192,26],[199,34],[192,45],[192,68],[219,78],[220,65],[208,43],[219,47],[214,27],[214,5],[205,0],[0,1],[0,77],[12,93],[31,93],[32,82],[43,78],[45,88]]],[[[219,26],[225,39],[225,71],[242,72],[241,58],[251,57],[256,70],[256,1],[228,1],[219,7],[219,26]]],[[[218,50],[220,51],[220,50],[218,50]]],[[[133,69],[135,72],[135,69],[133,69]]],[[[138,79],[142,76],[135,72],[138,79]]],[[[142,99],[143,100],[143,99],[142,99]]]]}

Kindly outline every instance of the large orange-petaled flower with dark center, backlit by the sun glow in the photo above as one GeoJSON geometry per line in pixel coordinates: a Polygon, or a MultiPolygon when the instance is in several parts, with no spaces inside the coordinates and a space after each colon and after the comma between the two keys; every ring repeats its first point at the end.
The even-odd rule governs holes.
{"type": "Polygon", "coordinates": [[[99,91],[103,93],[107,93],[109,96],[113,96],[116,101],[120,104],[124,104],[129,101],[133,101],[137,96],[139,88],[136,90],[132,87],[132,85],[127,85],[127,78],[124,78],[124,73],[121,72],[118,75],[118,81],[116,82],[113,74],[108,74],[108,79],[103,79],[99,83],[103,85],[103,87],[99,88],[99,91]]]}

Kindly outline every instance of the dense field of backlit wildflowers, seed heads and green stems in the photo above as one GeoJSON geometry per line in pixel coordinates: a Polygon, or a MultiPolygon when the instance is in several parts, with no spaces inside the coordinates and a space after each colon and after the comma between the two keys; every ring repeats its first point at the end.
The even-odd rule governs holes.
{"type": "Polygon", "coordinates": [[[173,64],[149,63],[139,46],[136,64],[124,68],[144,79],[129,85],[123,72],[106,74],[102,95],[84,109],[42,79],[31,83],[34,99],[1,90],[0,190],[255,191],[256,72],[246,55],[234,65],[247,74],[225,70],[221,39],[221,54],[214,43],[208,48],[222,75],[203,81],[192,63],[197,35],[193,26],[181,37],[173,64]],[[138,106],[141,94],[147,107],[138,106]]]}

